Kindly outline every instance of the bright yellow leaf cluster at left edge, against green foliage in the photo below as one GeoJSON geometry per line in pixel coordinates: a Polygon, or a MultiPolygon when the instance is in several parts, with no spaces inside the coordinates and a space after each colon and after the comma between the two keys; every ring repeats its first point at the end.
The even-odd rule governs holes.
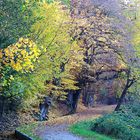
{"type": "Polygon", "coordinates": [[[11,66],[16,71],[30,72],[40,53],[41,51],[32,40],[20,38],[17,43],[1,50],[0,58],[3,64],[11,66]]]}

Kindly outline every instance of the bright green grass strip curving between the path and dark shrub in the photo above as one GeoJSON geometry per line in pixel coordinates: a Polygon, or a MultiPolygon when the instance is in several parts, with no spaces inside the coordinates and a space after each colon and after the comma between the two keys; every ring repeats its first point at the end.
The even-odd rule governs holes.
{"type": "Polygon", "coordinates": [[[70,126],[69,130],[76,135],[86,137],[88,140],[115,140],[105,135],[98,134],[91,130],[94,120],[78,122],[70,126]]]}

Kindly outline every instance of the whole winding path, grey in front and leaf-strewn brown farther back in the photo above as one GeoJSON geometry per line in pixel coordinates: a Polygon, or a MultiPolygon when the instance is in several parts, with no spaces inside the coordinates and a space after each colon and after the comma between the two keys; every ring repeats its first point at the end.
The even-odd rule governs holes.
{"type": "Polygon", "coordinates": [[[82,108],[76,114],[67,115],[50,120],[45,126],[36,129],[36,134],[42,140],[83,140],[68,132],[69,125],[82,120],[95,119],[114,110],[115,106],[98,106],[95,108],[82,108]]]}

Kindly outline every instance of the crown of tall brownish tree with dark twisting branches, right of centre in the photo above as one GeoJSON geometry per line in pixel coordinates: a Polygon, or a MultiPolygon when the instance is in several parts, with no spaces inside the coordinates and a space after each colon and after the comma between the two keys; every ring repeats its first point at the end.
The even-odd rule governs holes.
{"type": "MultiPolygon", "coordinates": [[[[76,19],[76,30],[72,34],[85,49],[86,62],[79,81],[86,85],[118,78],[119,73],[126,70],[122,61],[124,29],[118,28],[120,20],[111,9],[102,7],[102,3],[96,5],[92,1],[73,2],[72,17],[76,19]],[[118,24],[114,24],[115,21],[118,24]]],[[[85,93],[87,92],[86,90],[85,93]]]]}

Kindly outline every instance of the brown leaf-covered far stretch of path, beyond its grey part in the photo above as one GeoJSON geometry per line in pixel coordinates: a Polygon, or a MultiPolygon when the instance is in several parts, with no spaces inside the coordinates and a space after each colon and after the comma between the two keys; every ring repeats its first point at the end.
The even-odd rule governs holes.
{"type": "Polygon", "coordinates": [[[62,124],[62,123],[72,124],[81,120],[98,118],[106,113],[111,113],[114,110],[114,108],[115,105],[98,105],[94,108],[87,108],[80,105],[78,107],[76,114],[50,119],[47,122],[47,125],[62,124]]]}

